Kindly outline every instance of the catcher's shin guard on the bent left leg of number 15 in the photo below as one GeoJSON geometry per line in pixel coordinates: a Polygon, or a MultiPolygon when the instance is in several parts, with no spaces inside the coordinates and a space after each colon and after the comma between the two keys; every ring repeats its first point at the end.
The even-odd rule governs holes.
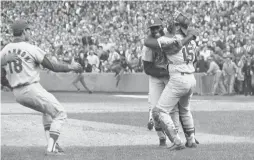
{"type": "Polygon", "coordinates": [[[172,143],[182,143],[169,114],[164,113],[155,107],[153,109],[153,119],[161,126],[172,143]]]}

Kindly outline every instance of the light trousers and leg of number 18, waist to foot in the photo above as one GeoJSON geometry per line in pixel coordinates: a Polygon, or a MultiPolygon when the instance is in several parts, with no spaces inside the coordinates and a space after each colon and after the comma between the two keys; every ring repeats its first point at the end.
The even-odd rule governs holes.
{"type": "Polygon", "coordinates": [[[49,130],[47,154],[56,152],[56,142],[60,135],[61,128],[67,118],[67,114],[63,106],[39,83],[34,83],[20,89],[14,89],[13,93],[18,103],[43,114],[48,114],[52,117],[52,123],[49,130]]]}

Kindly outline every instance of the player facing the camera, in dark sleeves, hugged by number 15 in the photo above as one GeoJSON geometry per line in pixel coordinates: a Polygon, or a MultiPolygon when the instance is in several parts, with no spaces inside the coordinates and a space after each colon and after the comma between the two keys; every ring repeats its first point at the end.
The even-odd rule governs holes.
{"type": "MultiPolygon", "coordinates": [[[[162,21],[159,18],[154,18],[148,22],[150,29],[150,35],[145,39],[146,42],[157,40],[158,38],[164,36],[162,21]]],[[[160,125],[155,121],[153,122],[151,108],[154,108],[159,100],[159,97],[168,83],[169,74],[167,71],[167,58],[161,53],[160,49],[143,47],[142,60],[144,64],[144,70],[147,75],[149,75],[149,122],[148,129],[153,128],[153,123],[155,130],[159,136],[160,146],[166,146],[166,135],[160,125]]],[[[174,119],[175,126],[179,126],[179,114],[178,108],[172,110],[170,113],[172,119],[174,119]]]]}

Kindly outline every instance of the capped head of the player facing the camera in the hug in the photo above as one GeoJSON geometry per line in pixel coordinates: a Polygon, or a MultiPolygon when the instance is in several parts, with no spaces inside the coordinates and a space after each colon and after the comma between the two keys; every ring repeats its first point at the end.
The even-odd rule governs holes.
{"type": "Polygon", "coordinates": [[[164,35],[163,24],[160,18],[154,18],[148,21],[148,27],[153,37],[158,38],[164,35]]]}

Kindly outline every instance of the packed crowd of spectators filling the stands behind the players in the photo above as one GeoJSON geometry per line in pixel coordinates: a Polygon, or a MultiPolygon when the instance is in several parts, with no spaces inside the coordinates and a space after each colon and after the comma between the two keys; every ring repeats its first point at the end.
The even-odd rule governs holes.
{"type": "Polygon", "coordinates": [[[249,61],[254,71],[253,1],[5,1],[1,4],[2,46],[11,40],[10,24],[15,19],[24,19],[31,26],[32,43],[56,59],[69,61],[82,55],[92,65],[92,72],[111,72],[110,66],[119,61],[126,61],[126,72],[142,72],[142,44],[149,33],[147,20],[156,16],[166,20],[175,9],[186,13],[193,27],[200,31],[196,39],[196,72],[208,70],[209,57],[221,70],[230,57],[237,67],[234,74],[242,74],[245,62],[249,61]]]}

